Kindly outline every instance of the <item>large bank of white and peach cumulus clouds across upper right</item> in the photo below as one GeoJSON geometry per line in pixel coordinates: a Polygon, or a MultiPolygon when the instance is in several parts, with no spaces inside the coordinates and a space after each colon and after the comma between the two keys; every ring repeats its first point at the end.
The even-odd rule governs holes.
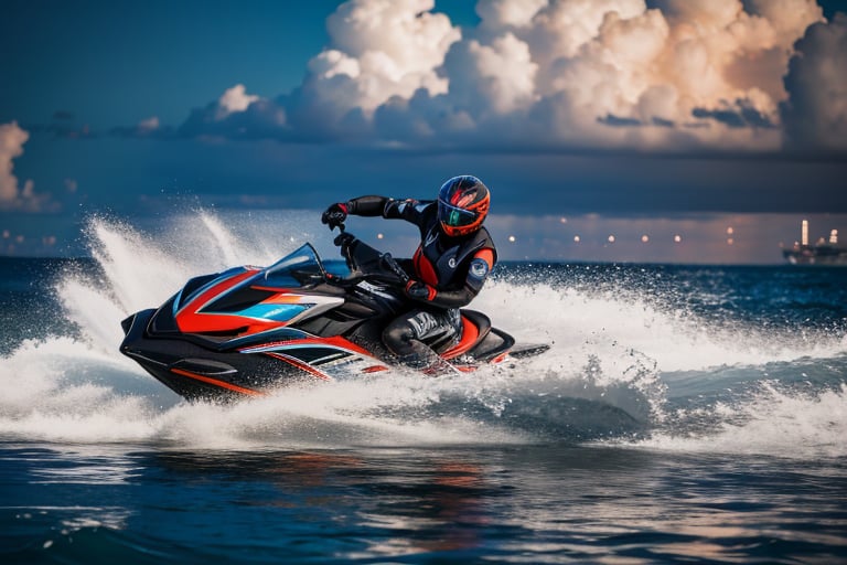
{"type": "Polygon", "coordinates": [[[663,151],[772,151],[818,135],[832,147],[840,134],[822,126],[841,115],[843,90],[813,89],[844,78],[807,60],[844,67],[841,19],[827,24],[814,0],[480,0],[465,29],[433,9],[343,3],[298,88],[270,99],[236,85],[180,134],[663,151]],[[801,128],[808,115],[821,127],[801,128]]]}

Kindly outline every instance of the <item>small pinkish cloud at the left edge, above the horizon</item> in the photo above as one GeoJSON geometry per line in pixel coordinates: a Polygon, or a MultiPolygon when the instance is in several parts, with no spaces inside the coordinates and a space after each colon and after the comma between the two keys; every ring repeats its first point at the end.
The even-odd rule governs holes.
{"type": "Polygon", "coordinates": [[[30,138],[17,121],[0,124],[0,210],[41,212],[55,209],[47,195],[35,193],[35,183],[30,179],[18,186],[12,173],[14,159],[23,154],[23,145],[30,138]]]}

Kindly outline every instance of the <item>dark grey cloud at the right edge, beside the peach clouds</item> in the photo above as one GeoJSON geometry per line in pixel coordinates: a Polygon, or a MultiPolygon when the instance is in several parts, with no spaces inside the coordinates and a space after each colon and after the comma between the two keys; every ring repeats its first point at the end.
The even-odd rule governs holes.
{"type": "Polygon", "coordinates": [[[847,150],[847,14],[808,28],[795,50],[781,107],[787,143],[847,150]]]}

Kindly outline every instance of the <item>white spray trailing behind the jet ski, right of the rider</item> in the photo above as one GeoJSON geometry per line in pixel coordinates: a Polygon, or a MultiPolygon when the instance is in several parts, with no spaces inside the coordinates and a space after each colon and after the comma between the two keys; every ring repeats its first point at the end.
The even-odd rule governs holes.
{"type": "MultiPolygon", "coordinates": [[[[527,341],[555,343],[562,366],[597,356],[607,375],[631,365],[629,353],[655,361],[658,371],[703,371],[801,358],[828,359],[847,351],[838,335],[774,335],[768,329],[721,327],[689,311],[662,308],[637,290],[590,292],[550,284],[494,281],[473,302],[495,326],[527,341]]],[[[549,363],[551,356],[539,358],[549,363]]]]}

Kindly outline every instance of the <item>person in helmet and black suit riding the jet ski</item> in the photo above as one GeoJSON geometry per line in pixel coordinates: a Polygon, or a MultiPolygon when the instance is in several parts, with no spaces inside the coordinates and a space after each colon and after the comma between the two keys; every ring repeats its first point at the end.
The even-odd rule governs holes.
{"type": "Polygon", "coordinates": [[[410,279],[405,288],[415,307],[383,331],[385,345],[407,366],[441,372],[443,361],[422,340],[433,338],[433,345],[442,347],[461,339],[459,308],[482,289],[497,258],[482,226],[490,201],[480,179],[462,175],[448,180],[437,201],[360,196],[332,204],[321,216],[330,228],[353,214],[406,220],[420,230],[421,243],[407,268],[410,279]]]}

